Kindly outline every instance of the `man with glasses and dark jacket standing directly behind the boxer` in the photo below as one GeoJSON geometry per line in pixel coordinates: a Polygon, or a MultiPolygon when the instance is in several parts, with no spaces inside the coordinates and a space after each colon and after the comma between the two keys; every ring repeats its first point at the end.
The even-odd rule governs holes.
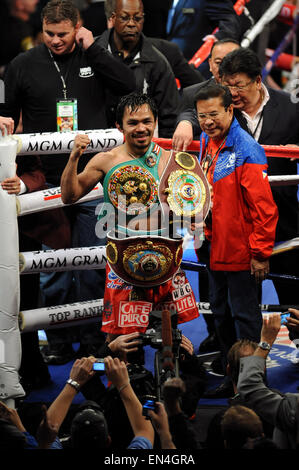
{"type": "MultiPolygon", "coordinates": [[[[171,137],[179,93],[169,63],[142,33],[142,1],[117,0],[111,20],[113,28],[105,31],[96,42],[133,70],[136,91],[147,93],[158,106],[159,136],[171,137]]],[[[114,127],[118,97],[107,93],[106,102],[108,125],[114,127]]]]}

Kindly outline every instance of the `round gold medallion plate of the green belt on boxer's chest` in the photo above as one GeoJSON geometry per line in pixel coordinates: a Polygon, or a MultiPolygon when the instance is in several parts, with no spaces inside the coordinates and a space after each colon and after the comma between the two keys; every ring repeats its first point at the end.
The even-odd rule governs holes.
{"type": "Polygon", "coordinates": [[[151,172],[141,165],[127,164],[110,176],[108,196],[115,209],[127,215],[147,212],[158,202],[158,185],[151,172]]]}

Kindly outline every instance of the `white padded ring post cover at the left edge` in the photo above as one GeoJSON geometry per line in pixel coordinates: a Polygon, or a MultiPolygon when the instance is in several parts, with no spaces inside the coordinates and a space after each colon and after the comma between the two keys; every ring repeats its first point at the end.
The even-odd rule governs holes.
{"type": "MultiPolygon", "coordinates": [[[[17,142],[0,136],[0,181],[16,174],[17,142]]],[[[24,396],[19,383],[21,338],[18,325],[20,304],[19,239],[16,197],[0,186],[0,400],[24,396]]]]}

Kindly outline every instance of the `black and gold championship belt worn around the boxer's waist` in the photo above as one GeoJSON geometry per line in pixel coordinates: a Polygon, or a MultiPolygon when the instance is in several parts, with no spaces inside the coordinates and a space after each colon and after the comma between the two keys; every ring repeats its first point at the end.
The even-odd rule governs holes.
{"type": "Polygon", "coordinates": [[[141,235],[117,238],[107,234],[106,256],[112,271],[124,282],[152,287],[163,284],[178,271],[183,238],[141,235]]]}

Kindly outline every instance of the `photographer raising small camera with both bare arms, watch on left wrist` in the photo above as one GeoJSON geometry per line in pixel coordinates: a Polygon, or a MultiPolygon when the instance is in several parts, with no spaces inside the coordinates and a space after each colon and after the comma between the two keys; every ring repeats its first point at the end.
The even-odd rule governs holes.
{"type": "MultiPolygon", "coordinates": [[[[51,446],[76,394],[81,391],[81,387],[95,375],[93,371],[94,362],[95,358],[93,357],[84,357],[75,361],[70,372],[70,378],[67,380],[63,390],[49,409],[44,410],[44,419],[38,430],[38,436],[41,442],[40,448],[49,448],[51,446]]],[[[112,357],[108,356],[105,358],[105,370],[108,380],[117,389],[134,433],[134,438],[127,448],[152,449],[154,429],[151,422],[146,420],[142,415],[142,405],[130,384],[126,364],[118,358],[112,359],[112,357]]],[[[85,409],[85,415],[82,415],[82,411],[79,413],[82,415],[82,419],[77,419],[77,415],[75,415],[71,425],[71,447],[73,447],[74,442],[77,443],[76,448],[96,449],[106,448],[111,445],[111,438],[108,431],[109,427],[107,427],[105,416],[102,412],[99,413],[95,411],[95,406],[89,406],[85,409]],[[89,415],[86,415],[86,411],[89,415]],[[101,422],[99,423],[99,421],[101,422]],[[104,428],[104,432],[102,428],[104,428]],[[82,437],[81,440],[84,441],[83,444],[78,440],[78,435],[80,434],[82,437]],[[101,439],[102,442],[100,442],[101,439]]],[[[25,430],[22,428],[21,431],[25,430]]],[[[125,440],[125,437],[126,435],[123,430],[123,440],[125,440]]],[[[112,444],[116,448],[113,441],[112,444]]],[[[61,449],[62,447],[56,448],[61,449]]]]}

